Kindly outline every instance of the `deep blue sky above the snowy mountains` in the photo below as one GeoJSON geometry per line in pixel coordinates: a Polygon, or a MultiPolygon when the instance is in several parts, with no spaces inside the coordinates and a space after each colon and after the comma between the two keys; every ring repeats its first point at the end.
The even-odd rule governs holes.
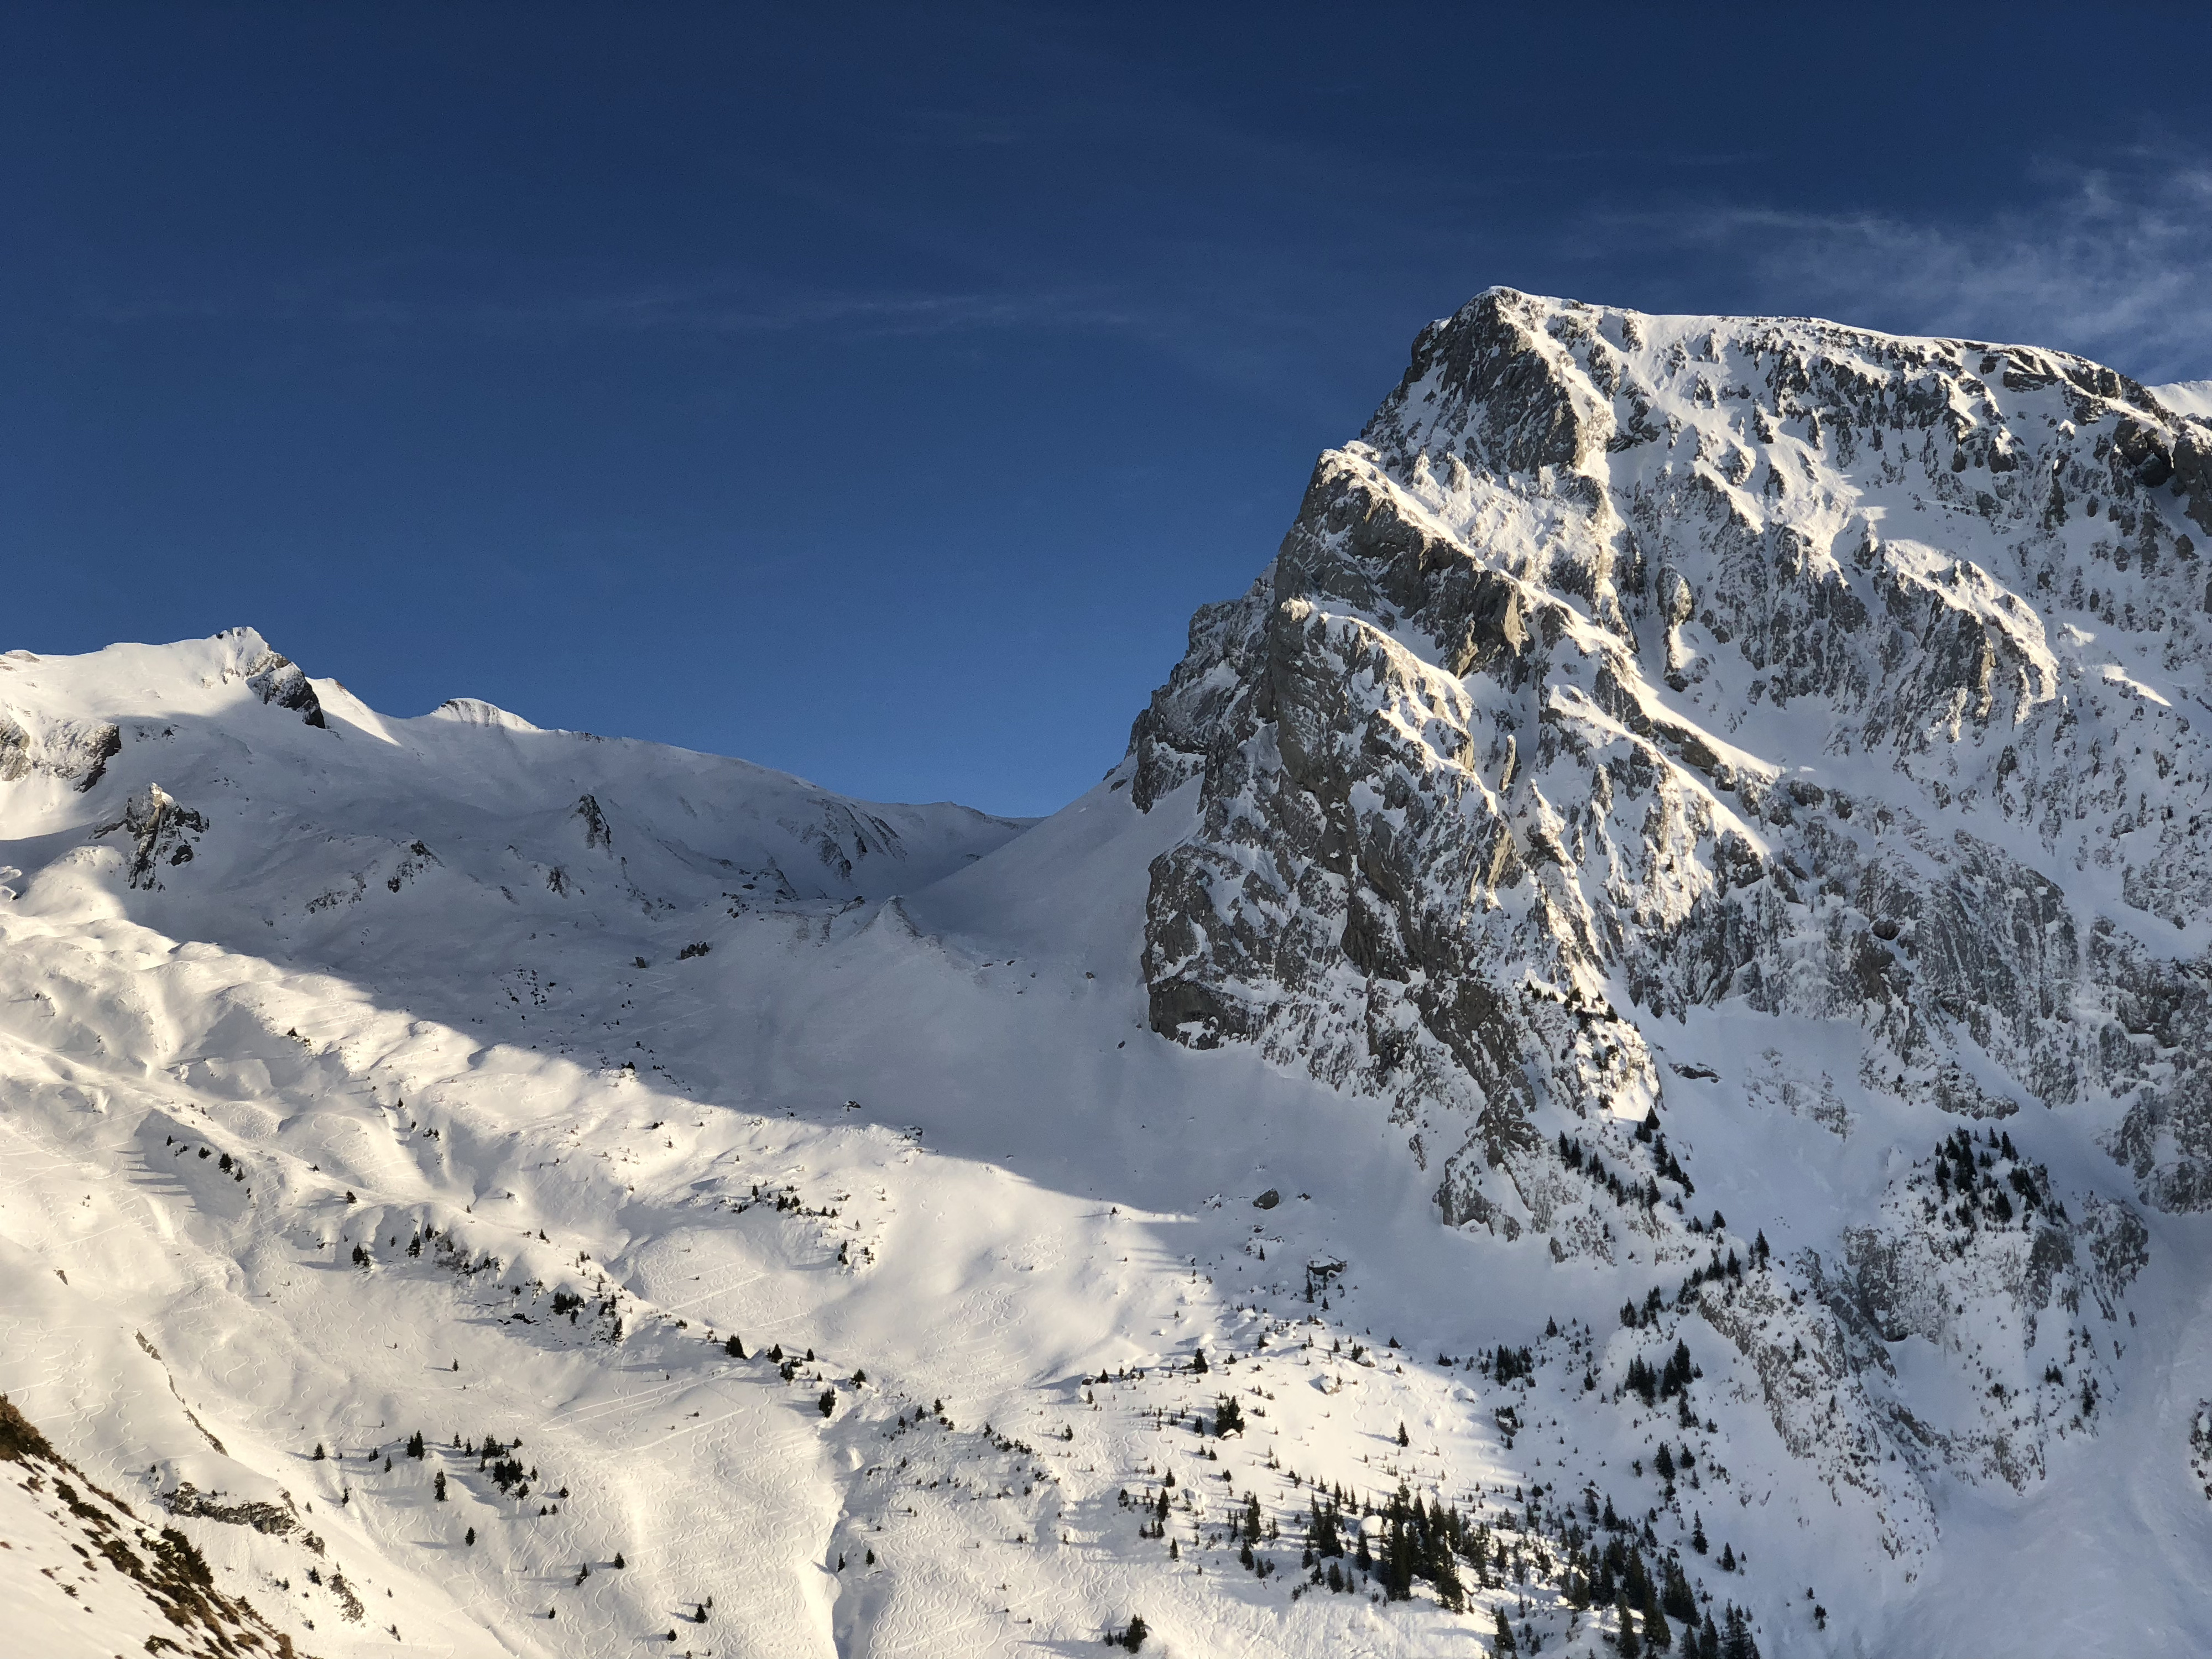
{"type": "Polygon", "coordinates": [[[1048,812],[1491,283],[2212,376],[2212,11],[15,4],[0,648],[1048,812]]]}

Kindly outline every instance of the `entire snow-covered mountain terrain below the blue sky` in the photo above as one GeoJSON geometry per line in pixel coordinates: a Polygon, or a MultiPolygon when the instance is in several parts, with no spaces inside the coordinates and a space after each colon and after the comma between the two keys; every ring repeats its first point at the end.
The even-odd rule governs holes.
{"type": "Polygon", "coordinates": [[[2212,1641],[2212,425],[1491,290],[1097,790],[0,657],[0,1652],[2212,1641]]]}

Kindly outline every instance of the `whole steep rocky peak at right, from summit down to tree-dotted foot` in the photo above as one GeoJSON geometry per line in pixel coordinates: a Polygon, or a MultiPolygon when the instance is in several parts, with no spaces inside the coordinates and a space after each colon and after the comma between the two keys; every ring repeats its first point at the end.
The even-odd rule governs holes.
{"type": "Polygon", "coordinates": [[[1137,723],[1201,794],[1150,1024],[1376,1097],[1509,1252],[1674,1263],[1637,1323],[1900,1584],[2084,1440],[2181,1493],[2208,531],[2212,427],[2099,365],[1491,290],[1137,723]]]}

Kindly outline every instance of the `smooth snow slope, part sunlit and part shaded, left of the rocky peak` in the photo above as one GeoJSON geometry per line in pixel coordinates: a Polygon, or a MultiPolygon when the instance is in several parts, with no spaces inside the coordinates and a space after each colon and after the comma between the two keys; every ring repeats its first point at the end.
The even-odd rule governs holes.
{"type": "MultiPolygon", "coordinates": [[[[1358,1106],[1144,1035],[1141,889],[1170,812],[1133,812],[1117,774],[1009,843],[960,810],[644,745],[542,734],[540,772],[509,761],[515,732],[535,741],[513,721],[380,721],[327,684],[307,726],[239,672],[263,650],[9,670],[31,763],[0,911],[0,1389],[66,1455],[137,1511],[173,1504],[307,1652],[383,1650],[392,1626],[440,1652],[670,1630],[684,1652],[942,1652],[947,1630],[991,1652],[1139,1608],[1194,1652],[1376,1621],[1347,1595],[1292,1624],[1281,1579],[1170,1575],[1119,1502],[1148,1467],[1206,1462],[1157,1413],[1210,1411],[1225,1383],[1164,1363],[1203,1343],[1228,1378],[1263,1376],[1230,1354],[1263,1327],[1239,1305],[1267,1243],[1265,1283],[1305,1312],[1298,1230],[1252,1232],[1287,1219],[1250,1208],[1261,1181],[1345,1210],[1314,1237],[1363,1259],[1433,1234],[1358,1106]],[[119,748],[84,787],[53,757],[77,728],[106,748],[104,726],[119,748]],[[708,765],[737,787],[695,790],[708,765]],[[655,792],[741,827],[670,852],[639,810],[655,792]],[[825,812],[929,847],[916,896],[807,867],[825,812]],[[987,847],[1004,876],[969,858],[987,847]],[[1347,1137],[1354,1203],[1327,1186],[1347,1137]],[[1084,1402],[1106,1367],[1148,1376],[1084,1402]],[[487,1436],[520,1436],[526,1495],[493,1484],[487,1436]],[[243,1504],[272,1531],[217,1513],[243,1504]]],[[[1394,1374],[1347,1405],[1283,1363],[1303,1394],[1274,1416],[1310,1438],[1305,1473],[1367,1482],[1365,1447],[1409,1413],[1464,1478],[1513,1473],[1455,1420],[1455,1383],[1394,1374]],[[1369,1433],[1332,1431],[1354,1416],[1369,1433]]],[[[1228,1462],[1261,1480],[1234,1442],[1228,1462]]],[[[1225,1504],[1186,1489],[1194,1544],[1225,1504]]],[[[1294,1520],[1287,1489],[1267,1498],[1294,1520]]],[[[1378,1624],[1369,1644],[1420,1639],[1378,1624]]]]}

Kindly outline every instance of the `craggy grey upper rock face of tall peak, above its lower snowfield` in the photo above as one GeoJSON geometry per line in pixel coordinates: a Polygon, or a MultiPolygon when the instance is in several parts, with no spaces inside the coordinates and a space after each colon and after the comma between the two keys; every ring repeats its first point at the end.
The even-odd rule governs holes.
{"type": "Polygon", "coordinates": [[[1137,719],[1201,814],[1155,1029],[1387,1097],[1451,1221],[1551,1228],[1551,1135],[1736,998],[1936,1110],[2124,1104],[2212,1203],[2208,456],[2055,352],[1478,296],[1137,719]]]}

